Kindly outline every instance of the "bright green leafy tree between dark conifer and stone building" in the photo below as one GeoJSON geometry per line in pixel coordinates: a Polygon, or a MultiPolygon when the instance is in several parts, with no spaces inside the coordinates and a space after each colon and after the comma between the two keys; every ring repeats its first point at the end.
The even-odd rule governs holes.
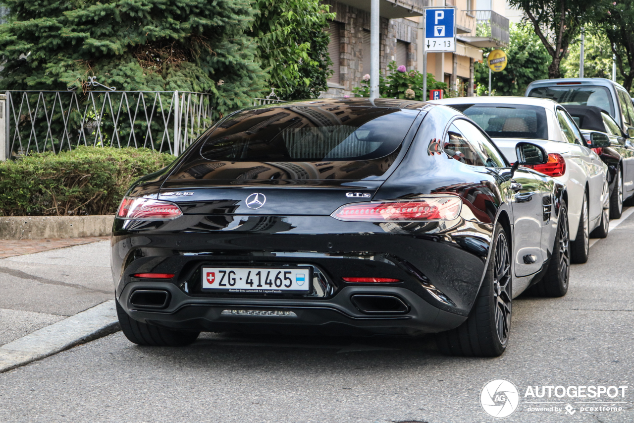
{"type": "Polygon", "coordinates": [[[259,15],[250,35],[257,39],[258,57],[269,84],[284,100],[316,98],[328,90],[332,61],[328,13],[320,0],[256,0],[259,15]]]}

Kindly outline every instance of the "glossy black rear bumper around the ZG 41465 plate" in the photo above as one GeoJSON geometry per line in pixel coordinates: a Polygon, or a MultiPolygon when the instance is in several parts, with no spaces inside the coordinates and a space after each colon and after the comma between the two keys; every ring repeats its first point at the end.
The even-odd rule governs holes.
{"type": "MultiPolygon", "coordinates": [[[[193,219],[193,216],[187,217],[193,219]]],[[[198,221],[203,217],[198,217],[198,221]]],[[[320,333],[439,332],[468,316],[482,281],[493,225],[456,219],[434,224],[377,225],[332,217],[245,217],[240,228],[159,231],[115,219],[112,272],[117,300],[131,318],[153,325],[204,331],[320,333]],[[266,232],[265,232],[266,231],[266,232]],[[223,267],[309,265],[309,294],[202,292],[204,265],[223,267]],[[174,274],[169,280],[136,273],[174,274]],[[315,278],[314,276],[317,275],[315,278]],[[342,278],[396,278],[400,283],[347,283],[342,278]],[[169,303],[148,309],[130,302],[135,290],[164,290],[169,303]],[[406,311],[363,312],[354,295],[388,295],[406,311]],[[294,317],[223,314],[223,311],[289,311],[294,317]]],[[[193,226],[191,227],[193,229],[193,226]]]]}

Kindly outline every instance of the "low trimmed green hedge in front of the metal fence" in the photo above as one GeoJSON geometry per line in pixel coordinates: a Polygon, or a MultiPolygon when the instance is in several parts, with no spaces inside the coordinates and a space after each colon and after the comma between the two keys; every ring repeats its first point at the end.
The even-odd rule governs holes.
{"type": "Polygon", "coordinates": [[[0,162],[0,216],[112,214],[134,180],[173,160],[150,149],[78,147],[0,162]]]}

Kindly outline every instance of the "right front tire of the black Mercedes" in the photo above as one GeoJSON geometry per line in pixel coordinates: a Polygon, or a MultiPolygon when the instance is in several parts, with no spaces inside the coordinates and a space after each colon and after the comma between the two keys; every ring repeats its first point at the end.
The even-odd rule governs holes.
{"type": "Polygon", "coordinates": [[[570,280],[570,233],[566,203],[559,209],[559,223],[553,253],[543,279],[531,286],[527,293],[536,297],[563,297],[568,292],[570,280]]]}

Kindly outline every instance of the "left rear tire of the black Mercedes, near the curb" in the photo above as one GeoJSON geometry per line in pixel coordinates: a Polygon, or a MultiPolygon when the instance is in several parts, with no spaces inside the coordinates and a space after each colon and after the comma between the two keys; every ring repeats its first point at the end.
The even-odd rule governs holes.
{"type": "Polygon", "coordinates": [[[121,330],[126,338],[134,344],[153,347],[183,347],[191,344],[200,332],[179,331],[159,328],[159,326],[148,325],[136,321],[124,311],[123,307],[117,303],[117,318],[121,330]]]}

